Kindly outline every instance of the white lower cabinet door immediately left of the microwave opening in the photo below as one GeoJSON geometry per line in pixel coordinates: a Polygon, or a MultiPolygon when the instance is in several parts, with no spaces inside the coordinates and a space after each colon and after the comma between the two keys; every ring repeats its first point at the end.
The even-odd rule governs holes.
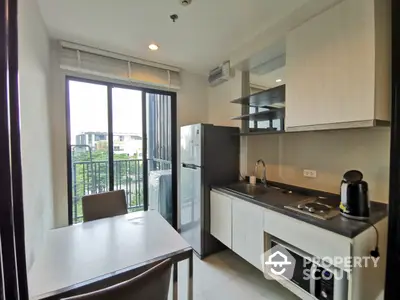
{"type": "Polygon", "coordinates": [[[232,250],[262,271],[263,209],[244,200],[232,199],[232,221],[232,250]]]}

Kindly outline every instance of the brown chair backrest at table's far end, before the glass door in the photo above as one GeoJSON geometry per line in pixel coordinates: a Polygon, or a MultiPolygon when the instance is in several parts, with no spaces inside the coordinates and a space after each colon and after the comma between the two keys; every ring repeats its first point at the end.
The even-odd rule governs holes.
{"type": "Polygon", "coordinates": [[[125,191],[113,191],[82,197],[83,221],[115,217],[128,213],[125,191]]]}

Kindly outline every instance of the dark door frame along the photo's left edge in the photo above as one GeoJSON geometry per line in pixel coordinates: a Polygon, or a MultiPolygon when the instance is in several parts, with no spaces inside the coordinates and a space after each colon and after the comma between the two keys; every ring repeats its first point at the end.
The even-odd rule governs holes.
{"type": "Polygon", "coordinates": [[[0,3],[0,40],[0,299],[27,300],[18,1],[0,3]]]}

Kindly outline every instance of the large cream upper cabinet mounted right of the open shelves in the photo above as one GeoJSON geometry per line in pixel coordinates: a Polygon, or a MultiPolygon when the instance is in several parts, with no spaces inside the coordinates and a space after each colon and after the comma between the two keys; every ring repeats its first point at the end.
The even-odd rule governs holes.
{"type": "Polygon", "coordinates": [[[388,0],[345,0],[295,28],[286,47],[287,131],[390,118],[388,0]]]}

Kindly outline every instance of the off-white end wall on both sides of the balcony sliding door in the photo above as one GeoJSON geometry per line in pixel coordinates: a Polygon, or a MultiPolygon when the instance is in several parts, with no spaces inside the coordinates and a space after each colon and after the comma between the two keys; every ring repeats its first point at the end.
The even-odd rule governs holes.
{"type": "MultiPolygon", "coordinates": [[[[59,68],[57,42],[51,47],[51,77],[52,77],[52,102],[51,135],[54,174],[54,211],[55,225],[62,227],[68,225],[68,185],[67,185],[67,137],[65,119],[65,75],[59,68]]],[[[78,74],[73,74],[78,76],[78,74]]],[[[105,80],[104,78],[92,79],[105,80]]],[[[119,82],[121,83],[121,82],[119,82]]],[[[206,76],[181,72],[181,89],[177,92],[177,141],[178,164],[179,157],[179,128],[182,125],[207,122],[207,78],[206,76]]],[[[180,168],[178,167],[178,176],[180,168]]],[[[178,186],[179,195],[179,186],[178,186]]]]}

